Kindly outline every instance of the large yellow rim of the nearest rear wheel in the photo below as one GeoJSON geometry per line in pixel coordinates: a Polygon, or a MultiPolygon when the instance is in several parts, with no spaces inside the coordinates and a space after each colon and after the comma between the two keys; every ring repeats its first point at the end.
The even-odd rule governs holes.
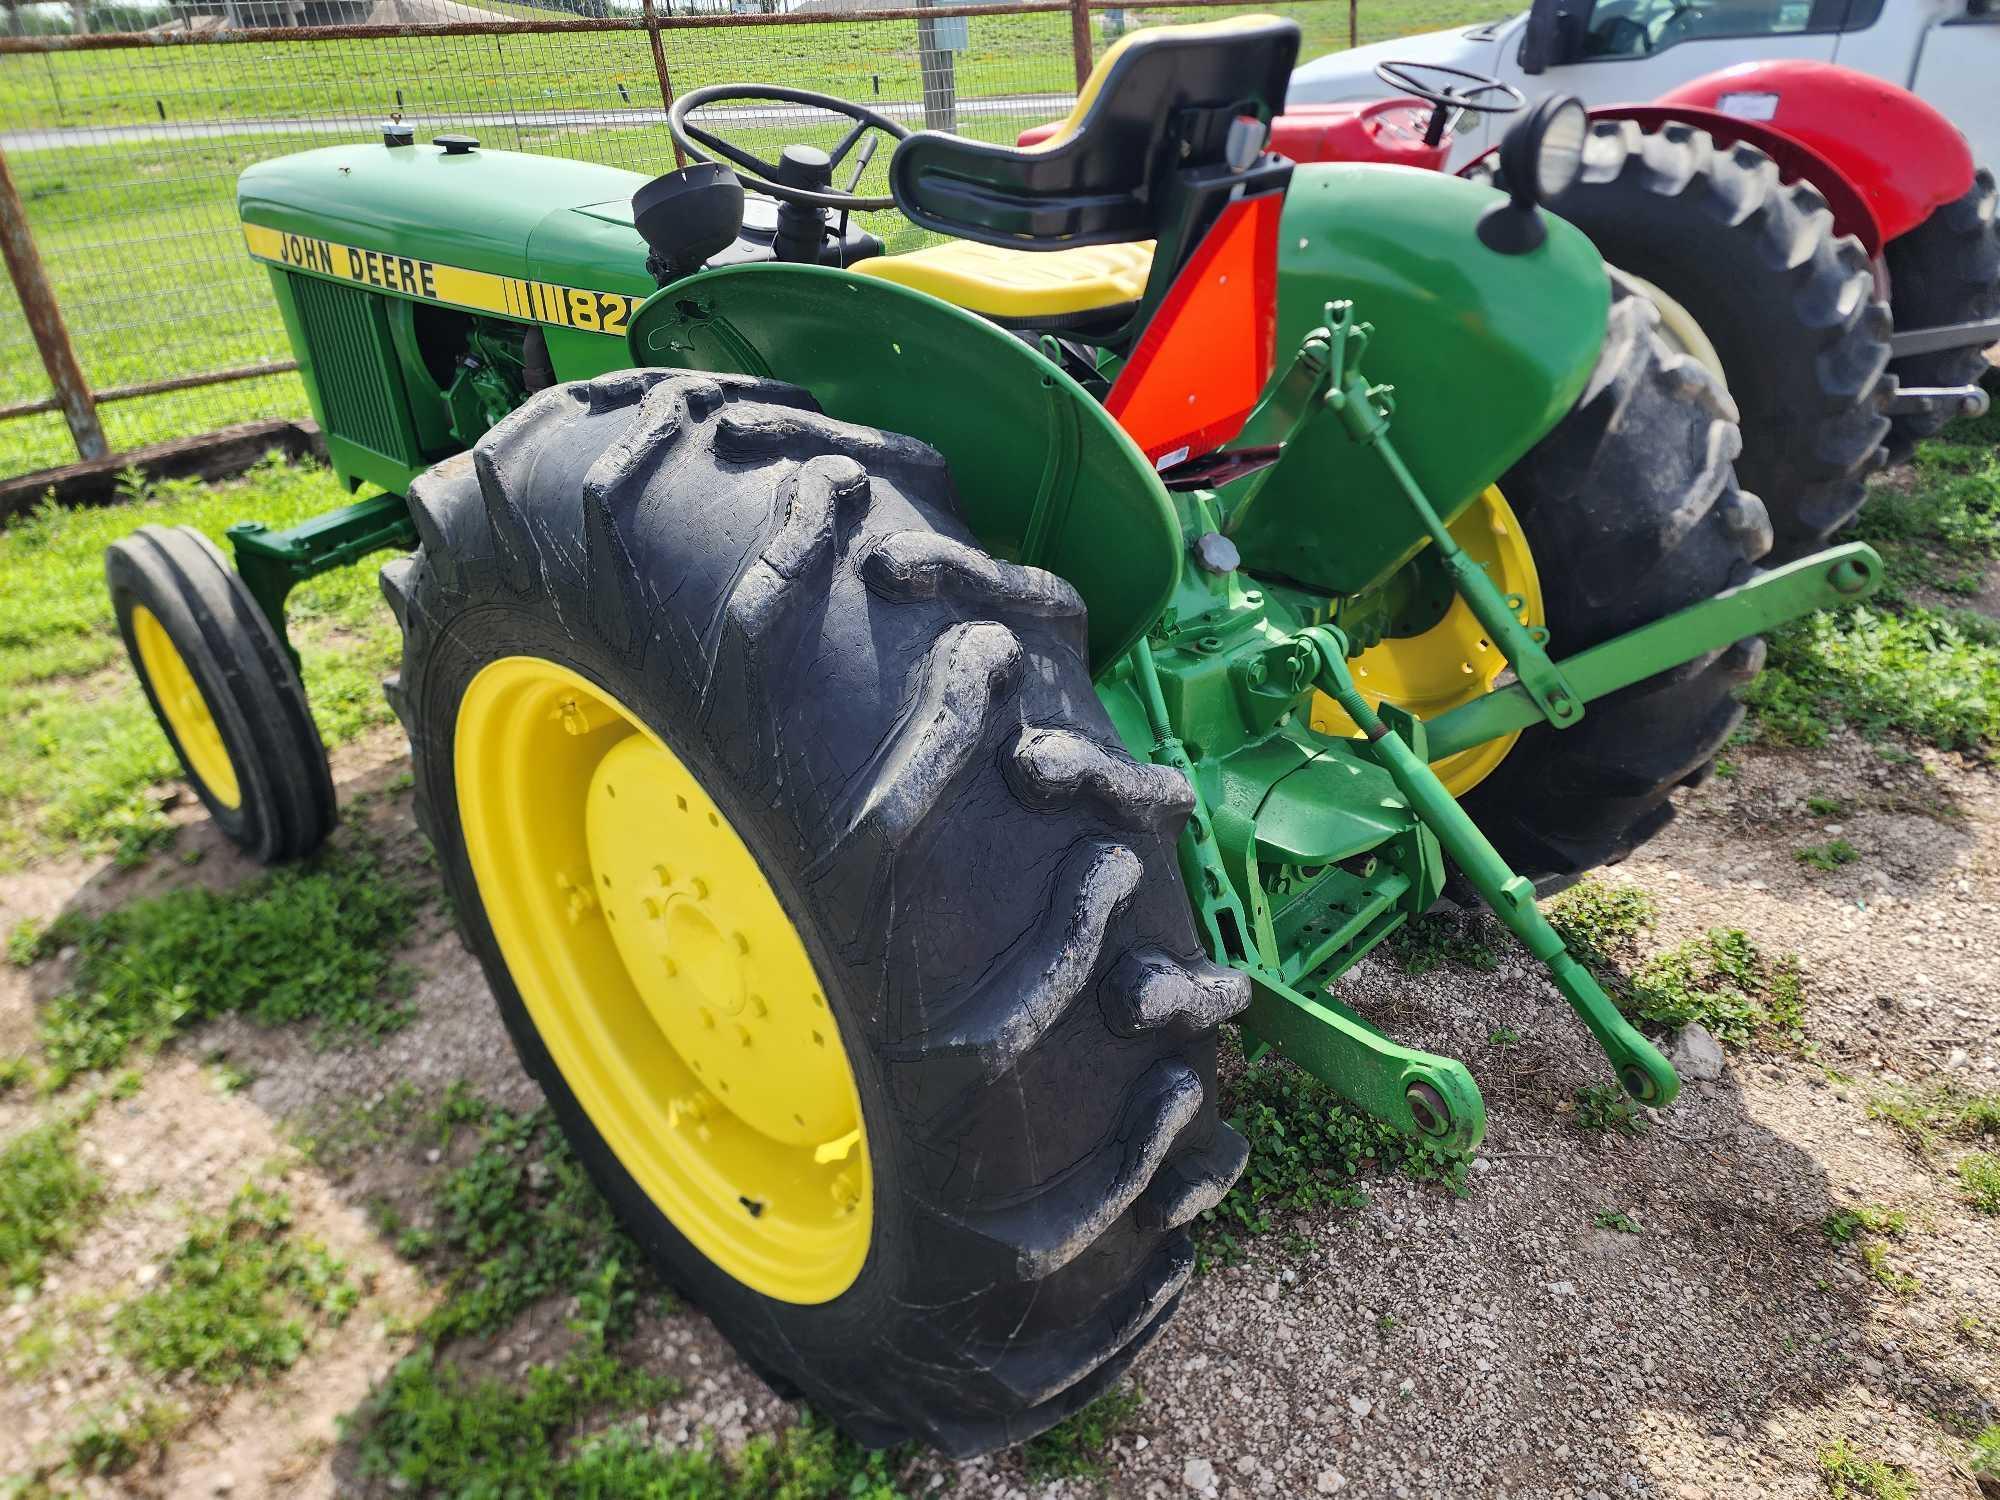
{"type": "Polygon", "coordinates": [[[620,1164],[752,1290],[840,1296],[872,1218],[860,1092],[742,836],[632,710],[532,656],[466,688],[454,772],[508,972],[620,1164]]]}

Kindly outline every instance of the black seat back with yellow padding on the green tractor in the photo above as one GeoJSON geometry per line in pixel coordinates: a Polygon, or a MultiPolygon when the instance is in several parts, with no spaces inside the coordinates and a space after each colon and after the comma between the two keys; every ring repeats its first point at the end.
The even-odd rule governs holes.
{"type": "Polygon", "coordinates": [[[916,224],[984,244],[1158,238],[1160,176],[1224,164],[1240,116],[1270,124],[1284,110],[1296,62],[1298,26],[1278,16],[1134,32],[1104,54],[1048,140],[994,146],[920,130],[890,160],[890,192],[916,224]]]}

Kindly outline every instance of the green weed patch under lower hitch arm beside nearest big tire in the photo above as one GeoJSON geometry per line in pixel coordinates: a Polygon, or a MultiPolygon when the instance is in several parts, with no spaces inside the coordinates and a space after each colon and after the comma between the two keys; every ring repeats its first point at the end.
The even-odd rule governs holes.
{"type": "Polygon", "coordinates": [[[1250,1162],[1196,1226],[1202,1268],[1240,1260],[1242,1242],[1268,1234],[1280,1214],[1364,1204],[1366,1174],[1404,1172],[1464,1190],[1462,1156],[1360,1114],[1278,1058],[1248,1064],[1226,1090],[1226,1104],[1230,1124],[1250,1142],[1250,1162]]]}

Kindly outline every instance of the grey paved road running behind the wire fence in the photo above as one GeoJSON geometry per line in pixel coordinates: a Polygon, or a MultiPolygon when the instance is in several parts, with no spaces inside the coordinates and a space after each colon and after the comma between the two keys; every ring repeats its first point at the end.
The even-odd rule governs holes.
{"type": "MultiPolygon", "coordinates": [[[[1056,118],[1070,108],[1074,94],[1004,94],[998,98],[962,98],[960,116],[1018,114],[1032,118],[1056,118]]],[[[922,122],[924,106],[916,102],[874,102],[870,104],[894,120],[922,122]]],[[[722,106],[702,110],[706,122],[726,124],[730,120],[748,124],[774,124],[786,114],[786,106],[722,106]]],[[[0,150],[46,152],[74,146],[118,146],[126,142],[182,142],[214,140],[222,136],[372,136],[378,120],[372,116],[318,116],[306,120],[166,120],[162,124],[118,124],[118,126],[54,126],[48,130],[6,130],[0,132],[0,150]]],[[[478,126],[604,126],[610,130],[634,130],[666,124],[666,110],[472,110],[466,114],[440,114],[416,118],[418,138],[428,138],[434,130],[476,130],[478,126]]]]}

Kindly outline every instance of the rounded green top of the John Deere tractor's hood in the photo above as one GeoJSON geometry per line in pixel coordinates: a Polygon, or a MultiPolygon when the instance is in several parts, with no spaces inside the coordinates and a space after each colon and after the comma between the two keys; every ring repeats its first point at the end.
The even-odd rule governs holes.
{"type": "MultiPolygon", "coordinates": [[[[646,296],[646,244],[632,228],[632,194],[644,182],[524,152],[322,146],[246,168],[236,212],[248,228],[322,242],[312,254],[352,248],[646,296]]],[[[398,290],[394,278],[384,290],[398,290]]]]}

